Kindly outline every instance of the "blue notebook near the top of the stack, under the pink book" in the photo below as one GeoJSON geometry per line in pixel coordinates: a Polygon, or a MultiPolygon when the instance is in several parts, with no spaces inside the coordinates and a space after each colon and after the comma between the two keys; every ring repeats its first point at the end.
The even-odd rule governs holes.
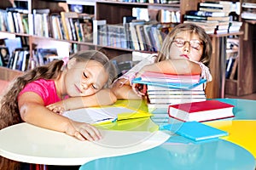
{"type": "Polygon", "coordinates": [[[207,82],[206,79],[201,79],[200,82],[195,83],[180,83],[180,82],[148,82],[148,81],[142,81],[141,77],[135,78],[132,80],[132,83],[140,83],[140,84],[147,84],[152,86],[159,86],[164,88],[177,88],[177,89],[184,89],[189,90],[192,88],[195,88],[199,86],[202,83],[207,82]]]}

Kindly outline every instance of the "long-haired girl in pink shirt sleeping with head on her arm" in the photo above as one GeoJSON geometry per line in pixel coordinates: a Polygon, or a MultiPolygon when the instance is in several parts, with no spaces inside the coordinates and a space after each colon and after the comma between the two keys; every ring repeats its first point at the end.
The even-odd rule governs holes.
{"type": "Polygon", "coordinates": [[[54,60],[15,79],[1,100],[0,129],[24,121],[80,140],[101,139],[96,127],[74,122],[61,112],[116,101],[108,89],[115,77],[111,61],[99,51],[88,50],[73,54],[63,64],[54,60]]]}

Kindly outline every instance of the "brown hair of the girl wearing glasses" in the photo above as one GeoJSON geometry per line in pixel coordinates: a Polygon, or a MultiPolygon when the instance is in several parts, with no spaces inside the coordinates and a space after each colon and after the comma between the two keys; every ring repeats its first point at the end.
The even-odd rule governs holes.
{"type": "Polygon", "coordinates": [[[200,26],[196,26],[195,24],[191,23],[184,23],[184,24],[179,24],[175,26],[172,31],[168,33],[166,36],[162,47],[160,48],[160,52],[158,54],[158,59],[156,59],[156,62],[159,62],[161,60],[166,60],[169,59],[171,56],[170,54],[172,53],[170,51],[170,48],[172,46],[172,41],[175,39],[177,33],[181,31],[190,31],[191,33],[195,33],[199,36],[200,40],[203,42],[203,54],[201,56],[201,62],[204,65],[209,65],[210,59],[212,56],[212,42],[210,37],[207,35],[207,32],[204,31],[203,28],[200,26]]]}

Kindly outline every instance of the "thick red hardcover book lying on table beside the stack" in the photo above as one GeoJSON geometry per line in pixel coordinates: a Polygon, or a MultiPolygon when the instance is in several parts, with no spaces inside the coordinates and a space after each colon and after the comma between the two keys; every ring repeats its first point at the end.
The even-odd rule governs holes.
{"type": "Polygon", "coordinates": [[[218,100],[169,105],[168,114],[183,122],[206,122],[216,119],[234,117],[234,105],[218,100]]]}

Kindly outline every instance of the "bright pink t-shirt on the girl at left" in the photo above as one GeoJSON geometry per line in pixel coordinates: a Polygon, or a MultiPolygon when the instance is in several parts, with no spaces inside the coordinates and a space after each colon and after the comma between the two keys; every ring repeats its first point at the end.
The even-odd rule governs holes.
{"type": "Polygon", "coordinates": [[[34,82],[30,82],[20,91],[19,96],[25,92],[34,92],[41,96],[45,106],[61,101],[57,95],[55,82],[53,80],[38,79],[34,82]]]}

